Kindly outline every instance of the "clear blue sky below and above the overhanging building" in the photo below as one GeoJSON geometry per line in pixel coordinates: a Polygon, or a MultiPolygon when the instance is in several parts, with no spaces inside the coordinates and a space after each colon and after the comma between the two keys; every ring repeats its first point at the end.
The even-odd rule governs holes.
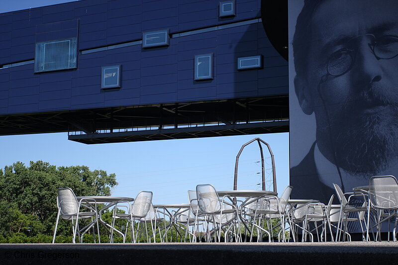
{"type": "MultiPolygon", "coordinates": [[[[3,1],[0,13],[69,1],[3,1]]],[[[100,145],[69,141],[67,133],[0,136],[0,168],[17,161],[29,165],[29,161],[37,160],[56,166],[85,165],[116,174],[119,185],[112,195],[135,197],[140,190],[151,190],[154,203],[187,203],[187,190],[195,189],[197,184],[232,189],[236,155],[244,143],[255,137],[269,143],[274,152],[281,193],[289,184],[288,133],[100,145]]],[[[261,189],[257,185],[261,182],[259,152],[253,143],[242,153],[238,189],[261,189]]],[[[270,164],[271,160],[266,162],[270,164]]],[[[266,169],[270,168],[266,164],[266,169]]]]}

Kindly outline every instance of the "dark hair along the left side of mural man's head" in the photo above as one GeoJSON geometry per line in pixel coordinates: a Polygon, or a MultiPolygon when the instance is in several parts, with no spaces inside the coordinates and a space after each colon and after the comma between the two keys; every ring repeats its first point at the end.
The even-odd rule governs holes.
{"type": "Polygon", "coordinates": [[[316,7],[324,0],[305,0],[298,15],[295,35],[293,37],[293,56],[296,75],[303,75],[308,66],[309,45],[311,34],[311,19],[316,7]]]}

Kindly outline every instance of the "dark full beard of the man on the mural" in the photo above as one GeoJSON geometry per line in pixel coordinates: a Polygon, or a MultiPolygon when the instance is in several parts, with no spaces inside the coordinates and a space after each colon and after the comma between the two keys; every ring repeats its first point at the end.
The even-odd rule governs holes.
{"type": "Polygon", "coordinates": [[[344,115],[329,122],[336,162],[351,175],[376,176],[397,161],[398,97],[380,91],[373,87],[347,99],[339,111],[344,115]]]}

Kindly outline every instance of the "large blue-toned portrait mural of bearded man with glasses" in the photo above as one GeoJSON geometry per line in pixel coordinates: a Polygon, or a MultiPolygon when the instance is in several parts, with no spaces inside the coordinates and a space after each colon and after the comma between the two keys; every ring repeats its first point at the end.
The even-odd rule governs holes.
{"type": "Polygon", "coordinates": [[[398,176],[398,1],[289,0],[292,198],[398,176]]]}

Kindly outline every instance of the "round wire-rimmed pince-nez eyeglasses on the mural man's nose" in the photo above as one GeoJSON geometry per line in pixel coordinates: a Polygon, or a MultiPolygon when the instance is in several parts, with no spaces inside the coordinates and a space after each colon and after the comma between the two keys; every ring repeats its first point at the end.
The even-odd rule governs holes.
{"type": "MultiPolygon", "coordinates": [[[[371,42],[368,43],[368,46],[377,60],[389,60],[398,55],[397,36],[384,35],[375,37],[373,34],[365,34],[352,38],[347,43],[352,43],[355,39],[363,36],[370,37],[371,42]]],[[[350,71],[355,62],[357,50],[358,49],[343,48],[332,53],[327,61],[327,74],[329,76],[339,77],[350,71]]]]}

